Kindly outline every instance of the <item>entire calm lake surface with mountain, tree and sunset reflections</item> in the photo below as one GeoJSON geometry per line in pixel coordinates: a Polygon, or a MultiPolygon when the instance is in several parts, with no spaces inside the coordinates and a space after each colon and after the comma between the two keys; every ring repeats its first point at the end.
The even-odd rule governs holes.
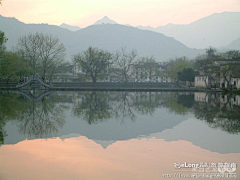
{"type": "Polygon", "coordinates": [[[239,96],[0,92],[1,180],[237,180],[238,165],[239,96]]]}

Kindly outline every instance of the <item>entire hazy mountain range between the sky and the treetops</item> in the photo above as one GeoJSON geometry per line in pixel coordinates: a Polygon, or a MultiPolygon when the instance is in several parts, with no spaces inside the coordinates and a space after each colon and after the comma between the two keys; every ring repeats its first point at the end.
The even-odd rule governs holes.
{"type": "Polygon", "coordinates": [[[240,12],[216,13],[188,25],[168,24],[137,28],[117,24],[107,16],[86,28],[62,24],[24,24],[15,18],[0,16],[0,30],[7,38],[7,48],[29,33],[48,33],[60,39],[67,49],[67,60],[89,46],[115,53],[121,47],[136,49],[138,56],[154,56],[157,61],[187,56],[194,58],[209,46],[220,50],[240,50],[240,12]],[[174,37],[174,38],[173,38],[174,37]],[[202,49],[193,49],[189,47],[202,49]]]}

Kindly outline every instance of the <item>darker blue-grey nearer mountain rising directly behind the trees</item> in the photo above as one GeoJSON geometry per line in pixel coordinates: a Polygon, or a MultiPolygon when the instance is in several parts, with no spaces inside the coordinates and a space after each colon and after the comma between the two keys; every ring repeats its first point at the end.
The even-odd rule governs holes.
{"type": "Polygon", "coordinates": [[[17,44],[18,38],[29,33],[43,32],[57,36],[67,49],[67,60],[89,46],[116,52],[121,47],[136,49],[139,56],[154,56],[157,61],[166,61],[178,56],[195,57],[203,50],[190,49],[174,38],[163,34],[140,30],[118,24],[92,25],[78,31],[69,31],[48,24],[24,24],[15,18],[0,16],[0,30],[7,38],[7,48],[17,44]]]}

